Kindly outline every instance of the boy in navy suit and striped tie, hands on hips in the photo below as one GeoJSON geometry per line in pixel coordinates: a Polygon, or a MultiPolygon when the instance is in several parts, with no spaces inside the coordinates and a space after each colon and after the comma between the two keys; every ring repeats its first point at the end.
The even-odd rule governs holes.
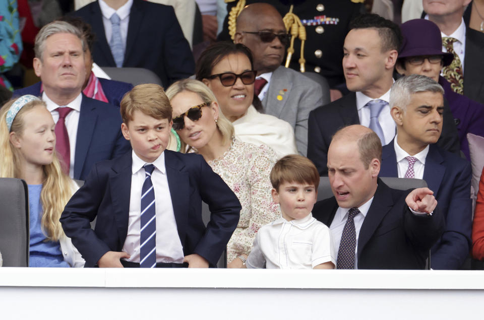
{"type": "Polygon", "coordinates": [[[165,150],[172,110],[162,87],[136,86],[120,111],[133,151],[97,163],[61,216],[85,266],[215,266],[238,223],[237,197],[202,156],[165,150]]]}

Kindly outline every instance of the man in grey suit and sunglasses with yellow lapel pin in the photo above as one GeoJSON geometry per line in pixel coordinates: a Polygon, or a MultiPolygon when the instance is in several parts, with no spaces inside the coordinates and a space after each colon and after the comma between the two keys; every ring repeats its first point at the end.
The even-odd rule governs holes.
{"type": "Polygon", "coordinates": [[[249,5],[237,18],[234,42],[243,43],[254,55],[255,94],[265,113],[292,125],[297,151],[306,156],[308,115],[330,102],[329,87],[323,92],[316,81],[281,66],[289,39],[281,15],[269,4],[249,5]]]}

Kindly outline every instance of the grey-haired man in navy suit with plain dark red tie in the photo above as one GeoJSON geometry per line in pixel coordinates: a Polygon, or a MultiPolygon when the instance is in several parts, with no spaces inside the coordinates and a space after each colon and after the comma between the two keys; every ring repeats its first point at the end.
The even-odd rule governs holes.
{"type": "Polygon", "coordinates": [[[54,21],[35,37],[35,74],[41,82],[14,92],[47,104],[55,124],[56,153],[72,178],[84,179],[96,162],[122,155],[130,145],[121,134],[119,110],[82,94],[85,43],[73,25],[54,21]]]}

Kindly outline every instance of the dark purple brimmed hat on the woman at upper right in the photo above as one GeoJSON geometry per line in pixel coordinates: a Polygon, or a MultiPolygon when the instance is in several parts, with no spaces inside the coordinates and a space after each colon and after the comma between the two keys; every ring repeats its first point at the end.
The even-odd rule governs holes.
{"type": "Polygon", "coordinates": [[[442,52],[442,36],[439,27],[432,21],[413,19],[400,26],[403,44],[399,58],[419,55],[442,54],[444,67],[450,65],[454,55],[442,52]]]}

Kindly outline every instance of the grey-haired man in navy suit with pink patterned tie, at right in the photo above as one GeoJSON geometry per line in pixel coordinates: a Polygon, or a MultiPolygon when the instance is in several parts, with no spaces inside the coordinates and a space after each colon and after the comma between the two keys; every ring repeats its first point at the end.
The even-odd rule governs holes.
{"type": "Polygon", "coordinates": [[[397,135],[383,147],[380,176],[427,181],[446,219],[445,231],[431,249],[432,269],[462,268],[471,246],[470,164],[435,143],[442,131],[444,90],[433,79],[411,75],[390,92],[397,135]]]}

